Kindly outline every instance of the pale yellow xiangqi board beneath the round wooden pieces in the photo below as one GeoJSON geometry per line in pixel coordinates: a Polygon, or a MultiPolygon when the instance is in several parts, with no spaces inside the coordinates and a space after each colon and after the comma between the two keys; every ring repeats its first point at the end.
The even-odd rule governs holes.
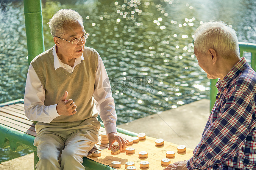
{"type": "MultiPolygon", "coordinates": [[[[93,157],[92,155],[88,155],[87,158],[92,159],[98,163],[102,163],[104,165],[111,166],[112,161],[121,162],[121,168],[117,169],[125,169],[125,163],[127,161],[134,162],[134,166],[136,169],[154,169],[154,170],[163,170],[167,165],[163,165],[161,163],[162,159],[170,159],[170,163],[174,163],[177,161],[188,160],[193,156],[193,149],[186,148],[184,152],[178,152],[177,147],[179,145],[173,144],[171,142],[164,141],[163,145],[156,145],[156,139],[152,137],[147,137],[146,139],[139,140],[139,142],[133,143],[132,145],[128,145],[128,147],[135,148],[134,153],[126,153],[126,151],[121,151],[117,154],[111,153],[110,150],[104,149],[101,151],[101,156],[93,157]],[[139,152],[147,152],[147,157],[142,158],[139,157],[139,152]],[[173,154],[166,154],[167,151],[173,151],[173,154]],[[173,156],[173,157],[168,157],[173,156]],[[140,166],[140,162],[148,161],[149,167],[143,168],[140,166]]],[[[171,152],[171,153],[173,153],[171,152]]],[[[170,152],[168,152],[170,153],[170,152]]],[[[164,160],[166,161],[166,160],[164,160]]],[[[163,162],[163,161],[162,161],[163,162]]]]}

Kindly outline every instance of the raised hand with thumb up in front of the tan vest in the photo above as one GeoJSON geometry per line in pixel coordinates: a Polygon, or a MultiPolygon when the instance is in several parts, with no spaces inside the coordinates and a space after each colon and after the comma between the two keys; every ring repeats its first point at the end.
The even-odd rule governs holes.
{"type": "Polygon", "coordinates": [[[60,101],[56,106],[57,113],[59,115],[70,116],[77,113],[77,110],[76,110],[77,106],[75,105],[72,99],[66,100],[67,96],[68,96],[68,92],[65,91],[65,94],[60,98],[60,101]]]}

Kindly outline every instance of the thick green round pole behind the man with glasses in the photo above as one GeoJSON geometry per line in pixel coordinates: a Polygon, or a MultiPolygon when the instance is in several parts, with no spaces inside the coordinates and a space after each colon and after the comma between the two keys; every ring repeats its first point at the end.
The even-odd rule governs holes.
{"type": "Polygon", "coordinates": [[[28,63],[44,52],[41,0],[24,0],[28,63]]]}

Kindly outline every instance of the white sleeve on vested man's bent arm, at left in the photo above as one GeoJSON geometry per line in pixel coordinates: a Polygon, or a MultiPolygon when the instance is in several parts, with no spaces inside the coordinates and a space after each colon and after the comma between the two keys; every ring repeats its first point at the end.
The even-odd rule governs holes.
{"type": "Polygon", "coordinates": [[[60,116],[55,105],[45,106],[45,91],[32,65],[29,65],[24,94],[25,116],[29,120],[44,123],[60,116]]]}

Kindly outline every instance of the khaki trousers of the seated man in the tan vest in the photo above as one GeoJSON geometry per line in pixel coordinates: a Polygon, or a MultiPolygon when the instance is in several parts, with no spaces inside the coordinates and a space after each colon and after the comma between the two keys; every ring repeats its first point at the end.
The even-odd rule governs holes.
{"type": "Polygon", "coordinates": [[[99,142],[100,122],[95,117],[65,126],[37,122],[35,128],[37,170],[84,170],[82,158],[99,142]]]}

